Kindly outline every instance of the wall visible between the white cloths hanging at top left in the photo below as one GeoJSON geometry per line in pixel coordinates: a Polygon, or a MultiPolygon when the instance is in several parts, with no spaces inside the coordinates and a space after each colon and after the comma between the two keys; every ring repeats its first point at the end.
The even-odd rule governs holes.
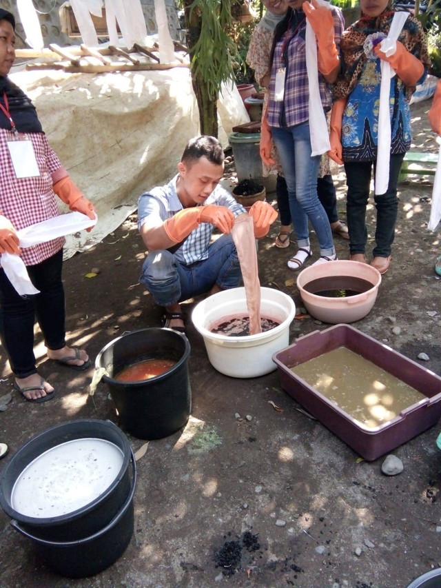
{"type": "MultiPolygon", "coordinates": [[[[124,0],[121,1],[123,2],[124,0]]],[[[45,47],[48,47],[50,43],[57,43],[57,45],[61,45],[62,47],[66,45],[79,45],[81,43],[81,37],[68,37],[67,34],[61,31],[59,8],[63,3],[64,0],[34,0],[34,6],[36,8],[38,7],[37,10],[39,10],[39,21],[41,23],[41,32],[45,47]]],[[[147,33],[151,34],[156,32],[154,0],[141,0],[141,5],[145,15],[147,33]]],[[[181,40],[183,37],[179,30],[178,15],[174,0],[165,0],[165,7],[172,39],[181,40]]],[[[23,26],[21,26],[21,22],[19,21],[17,2],[13,0],[0,0],[0,8],[9,10],[14,14],[17,20],[17,47],[26,47],[23,26]]],[[[103,38],[101,40],[106,41],[107,39],[103,38]]]]}

